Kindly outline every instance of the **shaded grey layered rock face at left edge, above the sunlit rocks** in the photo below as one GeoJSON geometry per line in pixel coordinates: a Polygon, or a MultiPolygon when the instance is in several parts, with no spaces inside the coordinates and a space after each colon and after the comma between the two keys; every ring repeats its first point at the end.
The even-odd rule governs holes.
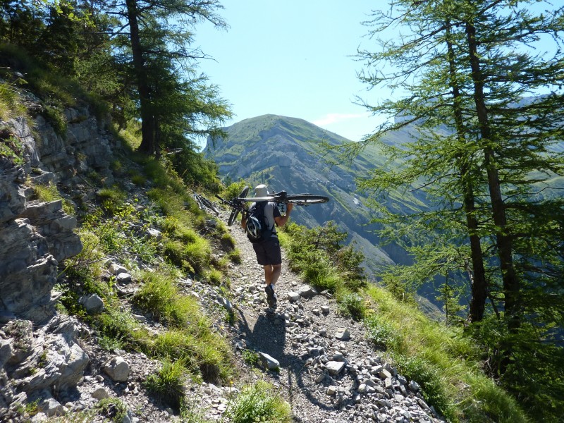
{"type": "Polygon", "coordinates": [[[74,216],[62,202],[29,201],[32,184],[72,185],[80,173],[97,171],[113,183],[109,170],[109,133],[86,107],[65,111],[67,133],[61,136],[38,115],[36,140],[24,118],[1,122],[22,145],[25,163],[0,157],[0,317],[46,321],[54,314],[51,288],[61,260],[78,255],[80,238],[74,216]],[[29,182],[28,182],[29,181],[29,182]],[[27,200],[26,200],[27,195],[27,200]]]}

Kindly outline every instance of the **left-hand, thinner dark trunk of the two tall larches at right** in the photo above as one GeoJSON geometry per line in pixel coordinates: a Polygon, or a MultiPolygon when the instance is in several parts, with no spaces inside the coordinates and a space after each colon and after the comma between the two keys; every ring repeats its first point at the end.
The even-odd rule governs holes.
{"type": "MultiPolygon", "coordinates": [[[[453,44],[449,41],[450,30],[446,25],[447,47],[448,47],[448,70],[450,73],[450,87],[453,90],[453,111],[456,133],[460,143],[465,142],[464,121],[460,108],[460,90],[456,82],[455,56],[453,44]]],[[[460,164],[460,180],[464,197],[464,212],[466,214],[466,226],[470,238],[470,256],[472,258],[472,298],[470,299],[470,321],[480,321],[484,318],[486,309],[487,284],[486,271],[484,269],[484,257],[482,255],[482,243],[478,235],[478,220],[476,219],[476,204],[474,201],[474,189],[470,179],[470,171],[467,161],[462,160],[460,164]]]]}

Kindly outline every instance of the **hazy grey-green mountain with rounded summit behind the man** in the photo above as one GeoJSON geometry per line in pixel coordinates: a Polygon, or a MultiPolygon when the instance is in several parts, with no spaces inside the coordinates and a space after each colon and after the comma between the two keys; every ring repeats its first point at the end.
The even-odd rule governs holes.
{"type": "MultiPolygon", "coordinates": [[[[271,191],[327,195],[331,198],[327,204],[297,207],[293,220],[309,227],[336,221],[364,252],[372,274],[377,274],[382,264],[406,262],[405,252],[395,245],[378,246],[373,232],[376,226],[369,223],[372,211],[356,192],[356,178],[366,177],[370,169],[384,164],[374,147],[365,149],[349,165],[321,147],[321,143],[338,145],[348,140],[302,119],[269,114],[224,129],[228,138],[218,140],[215,147],[209,142],[206,148],[207,157],[216,161],[222,176],[244,178],[253,186],[266,183],[271,191]]],[[[408,136],[407,132],[393,135],[408,136]]],[[[388,142],[396,141],[393,137],[388,142]]],[[[415,197],[409,201],[391,198],[388,207],[419,209],[424,203],[415,197]]]]}

